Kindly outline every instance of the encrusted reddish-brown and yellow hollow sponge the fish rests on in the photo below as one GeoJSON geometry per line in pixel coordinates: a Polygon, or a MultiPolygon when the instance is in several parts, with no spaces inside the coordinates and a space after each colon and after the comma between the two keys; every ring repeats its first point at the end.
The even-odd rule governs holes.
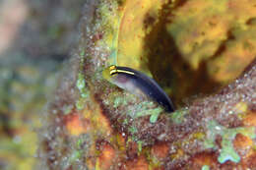
{"type": "Polygon", "coordinates": [[[255,61],[238,79],[220,88],[255,58],[253,49],[247,50],[245,45],[237,48],[239,67],[222,62],[238,61],[233,55],[234,46],[242,46],[244,41],[255,45],[253,36],[246,38],[247,30],[254,31],[255,4],[237,1],[243,4],[239,9],[244,8],[239,11],[227,0],[222,4],[200,0],[158,2],[87,3],[78,53],[63,73],[43,119],[38,152],[42,169],[256,168],[255,61]],[[237,16],[237,11],[241,15],[237,16]],[[137,13],[148,16],[147,20],[140,15],[135,18],[133,14],[137,13]],[[184,18],[180,17],[183,13],[184,18]],[[214,26],[205,22],[202,14],[214,20],[214,26]],[[224,21],[216,19],[224,14],[224,21]],[[193,21],[198,24],[191,26],[193,21]],[[237,31],[227,28],[230,23],[237,26],[237,31]],[[206,28],[200,24],[207,24],[206,28]],[[126,30],[128,26],[133,31],[126,30]],[[199,35],[196,31],[200,28],[208,33],[199,35]],[[135,52],[131,52],[130,45],[134,45],[135,52]],[[204,55],[209,50],[212,53],[204,55]],[[224,82],[215,76],[220,72],[207,72],[216,66],[212,65],[216,60],[222,64],[220,72],[229,74],[224,82]],[[101,71],[110,64],[127,65],[152,75],[166,86],[178,105],[181,97],[190,96],[196,88],[196,92],[209,91],[199,87],[215,86],[220,90],[191,99],[186,106],[167,114],[157,103],[140,100],[103,80],[101,71]],[[169,77],[175,75],[179,79],[172,79],[174,86],[169,85],[169,77]],[[175,91],[178,86],[180,89],[175,91]]]}

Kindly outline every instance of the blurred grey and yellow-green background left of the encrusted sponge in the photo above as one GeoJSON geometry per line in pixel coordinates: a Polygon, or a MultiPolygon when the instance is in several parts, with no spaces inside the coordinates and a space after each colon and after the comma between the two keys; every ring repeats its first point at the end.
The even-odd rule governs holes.
{"type": "MultiPolygon", "coordinates": [[[[84,0],[0,1],[0,169],[36,169],[37,129],[84,0]]],[[[45,110],[44,110],[45,111],[45,110]]]]}

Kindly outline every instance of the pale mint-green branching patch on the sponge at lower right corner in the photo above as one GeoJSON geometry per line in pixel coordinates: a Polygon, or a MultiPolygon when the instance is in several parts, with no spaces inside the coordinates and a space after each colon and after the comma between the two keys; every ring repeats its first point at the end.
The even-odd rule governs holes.
{"type": "Polygon", "coordinates": [[[220,163],[224,163],[227,160],[238,163],[240,161],[240,156],[235,152],[233,148],[232,141],[237,134],[241,134],[250,139],[255,139],[255,127],[241,127],[228,129],[222,125],[219,125],[216,121],[211,121],[208,126],[208,135],[205,141],[205,146],[207,148],[217,148],[215,144],[216,136],[220,135],[222,137],[222,149],[218,157],[220,163]]]}

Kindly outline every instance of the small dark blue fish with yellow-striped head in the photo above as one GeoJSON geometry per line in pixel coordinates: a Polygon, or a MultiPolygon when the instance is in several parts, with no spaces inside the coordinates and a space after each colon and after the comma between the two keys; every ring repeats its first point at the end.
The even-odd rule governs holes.
{"type": "Polygon", "coordinates": [[[168,95],[153,79],[128,67],[110,66],[102,72],[103,78],[139,97],[150,97],[160,103],[166,112],[173,112],[174,106],[168,95]]]}

